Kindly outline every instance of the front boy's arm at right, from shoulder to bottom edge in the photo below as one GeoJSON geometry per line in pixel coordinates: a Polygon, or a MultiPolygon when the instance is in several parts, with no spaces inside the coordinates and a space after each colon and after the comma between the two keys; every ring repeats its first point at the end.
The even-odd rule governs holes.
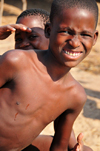
{"type": "Polygon", "coordinates": [[[69,138],[72,130],[73,123],[86,102],[86,94],[83,88],[75,90],[75,95],[72,101],[72,107],[67,109],[60,115],[57,127],[55,129],[54,139],[50,151],[66,151],[68,150],[69,138]]]}

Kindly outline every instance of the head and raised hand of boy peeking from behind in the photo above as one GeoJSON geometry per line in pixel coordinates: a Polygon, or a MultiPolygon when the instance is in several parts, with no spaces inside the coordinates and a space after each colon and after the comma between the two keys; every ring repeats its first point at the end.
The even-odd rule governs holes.
{"type": "Polygon", "coordinates": [[[48,49],[49,39],[45,37],[45,24],[50,22],[49,13],[43,9],[34,8],[23,11],[16,24],[0,27],[0,40],[6,39],[15,32],[16,49],[48,49]]]}

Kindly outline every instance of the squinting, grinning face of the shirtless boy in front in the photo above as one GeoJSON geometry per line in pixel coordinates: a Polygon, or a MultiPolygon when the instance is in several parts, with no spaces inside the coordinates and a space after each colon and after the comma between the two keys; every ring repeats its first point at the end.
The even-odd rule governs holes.
{"type": "Polygon", "coordinates": [[[63,10],[50,26],[50,49],[56,60],[68,67],[80,63],[95,44],[94,15],[80,8],[63,10]]]}

